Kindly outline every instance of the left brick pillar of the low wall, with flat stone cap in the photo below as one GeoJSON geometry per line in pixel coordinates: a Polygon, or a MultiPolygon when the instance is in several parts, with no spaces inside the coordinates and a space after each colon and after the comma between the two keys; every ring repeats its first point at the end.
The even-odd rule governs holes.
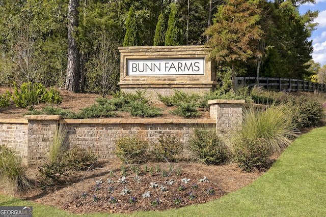
{"type": "Polygon", "coordinates": [[[47,158],[49,146],[61,115],[26,115],[28,119],[28,165],[39,165],[47,158]]]}

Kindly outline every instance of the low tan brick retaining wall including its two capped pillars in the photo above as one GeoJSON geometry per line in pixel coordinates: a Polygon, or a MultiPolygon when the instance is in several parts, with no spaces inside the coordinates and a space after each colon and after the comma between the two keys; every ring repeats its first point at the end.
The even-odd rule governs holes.
{"type": "MultiPolygon", "coordinates": [[[[60,115],[26,115],[25,119],[0,119],[0,144],[12,147],[25,165],[40,165],[60,124],[67,127],[69,144],[91,148],[101,158],[115,158],[115,142],[137,136],[156,142],[171,133],[187,145],[194,128],[213,128],[229,143],[232,131],[240,130],[244,101],[212,100],[210,119],[62,119],[60,115]]],[[[183,154],[189,154],[186,148],[183,154]]]]}

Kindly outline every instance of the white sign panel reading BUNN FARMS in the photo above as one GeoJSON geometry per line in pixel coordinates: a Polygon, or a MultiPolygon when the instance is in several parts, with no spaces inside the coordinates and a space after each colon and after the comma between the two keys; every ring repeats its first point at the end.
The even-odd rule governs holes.
{"type": "Polygon", "coordinates": [[[128,75],[204,75],[205,58],[128,59],[128,75]]]}

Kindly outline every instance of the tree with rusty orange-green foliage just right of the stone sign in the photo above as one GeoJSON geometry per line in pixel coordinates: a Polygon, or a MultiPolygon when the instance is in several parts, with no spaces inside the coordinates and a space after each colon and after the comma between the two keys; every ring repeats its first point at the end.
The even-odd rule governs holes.
{"type": "Polygon", "coordinates": [[[233,87],[235,67],[249,58],[257,56],[257,41],[263,34],[257,22],[261,11],[258,1],[229,0],[220,6],[205,34],[209,35],[210,58],[232,69],[233,87]]]}

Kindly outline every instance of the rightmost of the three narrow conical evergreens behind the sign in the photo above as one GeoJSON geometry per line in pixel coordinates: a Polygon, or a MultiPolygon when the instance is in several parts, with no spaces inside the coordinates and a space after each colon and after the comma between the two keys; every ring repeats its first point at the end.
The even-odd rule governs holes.
{"type": "Polygon", "coordinates": [[[171,11],[168,20],[168,28],[165,36],[166,46],[180,45],[180,29],[178,26],[178,14],[176,3],[171,4],[171,11]]]}

